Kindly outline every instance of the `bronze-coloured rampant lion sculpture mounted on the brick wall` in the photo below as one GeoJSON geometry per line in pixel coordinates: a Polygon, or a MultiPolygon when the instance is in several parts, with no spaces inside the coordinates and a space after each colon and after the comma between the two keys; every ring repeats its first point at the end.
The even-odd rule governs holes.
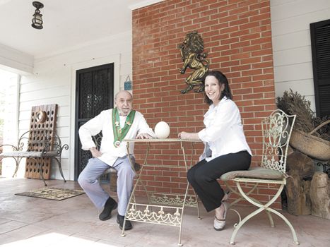
{"type": "Polygon", "coordinates": [[[199,35],[197,31],[189,32],[186,35],[184,42],[179,44],[179,49],[182,61],[184,62],[180,69],[180,73],[184,74],[188,67],[195,70],[186,78],[186,80],[184,80],[188,86],[186,89],[181,90],[181,93],[189,92],[195,86],[199,87],[194,90],[195,92],[203,92],[204,85],[201,79],[208,72],[209,62],[206,60],[208,54],[206,52],[203,53],[204,41],[201,38],[201,35],[199,35]]]}

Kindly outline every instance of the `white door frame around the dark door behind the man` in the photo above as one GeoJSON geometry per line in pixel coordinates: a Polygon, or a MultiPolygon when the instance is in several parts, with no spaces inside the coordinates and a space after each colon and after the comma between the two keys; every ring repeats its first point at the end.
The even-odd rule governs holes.
{"type": "Polygon", "coordinates": [[[70,154],[69,160],[69,180],[74,180],[74,158],[75,158],[75,118],[76,118],[76,71],[83,68],[90,68],[94,66],[100,66],[102,64],[114,63],[114,95],[120,90],[120,54],[114,54],[112,56],[103,57],[102,59],[95,59],[93,61],[87,61],[83,63],[73,64],[71,66],[71,83],[70,83],[70,154]]]}

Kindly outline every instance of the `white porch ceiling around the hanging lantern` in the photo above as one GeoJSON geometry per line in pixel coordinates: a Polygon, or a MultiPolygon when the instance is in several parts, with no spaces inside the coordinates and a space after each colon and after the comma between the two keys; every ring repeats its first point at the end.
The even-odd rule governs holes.
{"type": "Polygon", "coordinates": [[[0,0],[0,47],[40,58],[131,30],[131,9],[154,0],[39,0],[44,28],[31,27],[33,0],[0,0]]]}

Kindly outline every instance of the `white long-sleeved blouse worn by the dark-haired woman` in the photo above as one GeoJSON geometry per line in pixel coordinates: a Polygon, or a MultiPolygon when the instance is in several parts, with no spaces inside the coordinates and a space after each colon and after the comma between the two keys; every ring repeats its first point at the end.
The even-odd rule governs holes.
{"type": "Polygon", "coordinates": [[[240,110],[235,102],[223,97],[215,107],[213,104],[204,115],[204,125],[206,128],[199,131],[199,139],[204,144],[204,153],[199,159],[210,161],[220,155],[240,152],[246,150],[252,152],[245,139],[240,110]],[[206,145],[207,144],[207,145],[206,145]],[[211,157],[206,157],[206,147],[212,151],[211,157]]]}

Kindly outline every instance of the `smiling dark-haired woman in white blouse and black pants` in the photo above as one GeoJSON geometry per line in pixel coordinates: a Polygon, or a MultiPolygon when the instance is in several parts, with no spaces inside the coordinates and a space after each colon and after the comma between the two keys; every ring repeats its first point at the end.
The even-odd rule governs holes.
{"type": "Polygon", "coordinates": [[[252,152],[225,75],[220,71],[209,71],[204,86],[205,100],[210,105],[204,115],[205,128],[198,133],[181,132],[179,138],[199,138],[204,142],[204,153],[187,177],[206,211],[216,211],[214,229],[220,231],[225,227],[228,195],[217,179],[228,171],[249,169],[252,152]]]}

